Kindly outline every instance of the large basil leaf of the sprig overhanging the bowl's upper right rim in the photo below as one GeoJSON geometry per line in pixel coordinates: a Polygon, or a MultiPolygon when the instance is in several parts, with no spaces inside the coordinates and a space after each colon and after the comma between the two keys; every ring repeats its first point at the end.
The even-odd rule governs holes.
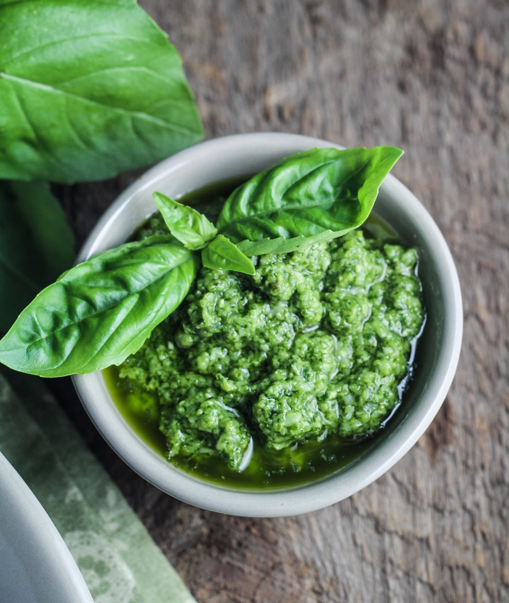
{"type": "Polygon", "coordinates": [[[232,192],[217,230],[248,255],[288,253],[344,235],[370,215],[402,154],[394,147],[327,148],[287,157],[232,192]]]}

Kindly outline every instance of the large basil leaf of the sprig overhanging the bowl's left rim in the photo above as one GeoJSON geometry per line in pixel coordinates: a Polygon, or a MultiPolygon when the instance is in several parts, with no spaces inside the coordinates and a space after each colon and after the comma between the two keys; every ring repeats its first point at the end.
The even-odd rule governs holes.
{"type": "Polygon", "coordinates": [[[198,258],[168,236],[121,245],[46,287],[0,341],[0,362],[61,377],[120,364],[173,312],[198,258]]]}

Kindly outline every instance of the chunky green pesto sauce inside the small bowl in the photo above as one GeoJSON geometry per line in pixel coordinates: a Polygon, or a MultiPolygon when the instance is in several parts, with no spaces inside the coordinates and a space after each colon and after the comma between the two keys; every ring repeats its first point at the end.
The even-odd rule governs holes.
{"type": "MultiPolygon", "coordinates": [[[[254,257],[254,277],[202,267],[181,306],[106,371],[142,437],[240,487],[316,479],[365,450],[400,402],[424,321],[417,251],[368,230],[380,229],[254,257]]],[[[156,215],[138,238],[159,233],[156,215]]]]}

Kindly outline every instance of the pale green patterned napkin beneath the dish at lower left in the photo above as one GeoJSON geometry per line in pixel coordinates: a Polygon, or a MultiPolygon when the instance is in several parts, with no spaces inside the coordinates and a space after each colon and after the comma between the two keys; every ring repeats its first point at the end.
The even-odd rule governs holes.
{"type": "Polygon", "coordinates": [[[196,603],[43,380],[6,376],[0,451],[57,526],[95,603],[196,603]]]}

